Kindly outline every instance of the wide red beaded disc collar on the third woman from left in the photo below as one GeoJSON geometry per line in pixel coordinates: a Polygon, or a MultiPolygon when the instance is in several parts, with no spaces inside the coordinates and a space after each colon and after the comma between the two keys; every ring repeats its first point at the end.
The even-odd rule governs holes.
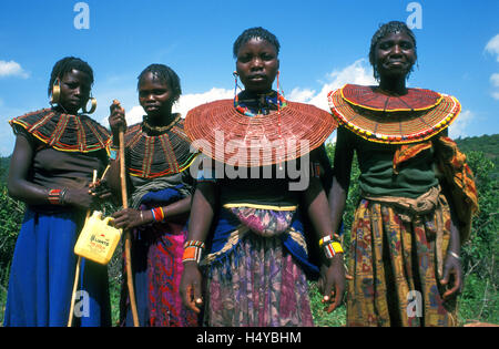
{"type": "Polygon", "coordinates": [[[192,109],[185,117],[185,132],[200,151],[243,167],[298,158],[320,146],[337,125],[328,112],[297,102],[268,115],[247,116],[233,100],[220,100],[192,109]]]}

